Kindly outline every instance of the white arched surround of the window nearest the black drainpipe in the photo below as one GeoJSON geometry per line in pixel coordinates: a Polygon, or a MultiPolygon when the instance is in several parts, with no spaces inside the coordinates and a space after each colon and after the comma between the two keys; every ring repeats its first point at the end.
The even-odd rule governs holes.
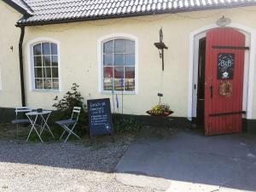
{"type": "Polygon", "coordinates": [[[28,68],[28,76],[29,76],[29,89],[32,91],[39,92],[60,92],[61,91],[61,44],[58,40],[54,38],[34,38],[27,43],[27,68],[28,68]],[[57,44],[58,50],[58,76],[59,76],[59,89],[36,89],[35,87],[35,72],[34,72],[34,59],[33,59],[33,46],[36,44],[42,43],[52,43],[57,44]]]}

